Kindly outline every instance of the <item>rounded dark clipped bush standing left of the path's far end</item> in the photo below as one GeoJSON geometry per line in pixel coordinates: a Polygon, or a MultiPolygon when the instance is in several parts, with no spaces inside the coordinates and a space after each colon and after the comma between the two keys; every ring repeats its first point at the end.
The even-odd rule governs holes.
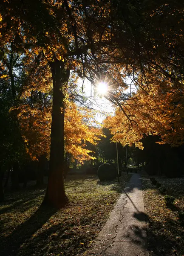
{"type": "Polygon", "coordinates": [[[103,163],[99,166],[98,177],[100,181],[113,180],[117,177],[116,169],[110,163],[103,163]]]}

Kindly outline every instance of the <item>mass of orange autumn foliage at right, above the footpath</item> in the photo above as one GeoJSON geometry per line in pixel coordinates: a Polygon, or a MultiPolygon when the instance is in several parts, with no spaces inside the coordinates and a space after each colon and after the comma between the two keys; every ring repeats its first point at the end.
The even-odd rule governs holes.
{"type": "MultiPolygon", "coordinates": [[[[137,83],[141,83],[138,78],[137,83]]],[[[131,93],[105,120],[114,141],[142,148],[145,135],[159,135],[159,144],[179,146],[184,143],[184,90],[179,81],[147,74],[148,86],[131,93]],[[150,76],[149,76],[150,75],[150,76]],[[122,111],[123,109],[123,111],[122,111]]]]}

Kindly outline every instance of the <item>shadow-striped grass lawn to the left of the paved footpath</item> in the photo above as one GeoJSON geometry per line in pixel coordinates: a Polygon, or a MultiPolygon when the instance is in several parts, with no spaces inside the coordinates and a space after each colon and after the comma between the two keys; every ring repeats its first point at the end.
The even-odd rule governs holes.
{"type": "Polygon", "coordinates": [[[0,251],[3,256],[76,256],[87,250],[102,229],[122,188],[95,175],[65,180],[69,204],[59,211],[40,208],[45,188],[8,192],[0,206],[0,251]]]}

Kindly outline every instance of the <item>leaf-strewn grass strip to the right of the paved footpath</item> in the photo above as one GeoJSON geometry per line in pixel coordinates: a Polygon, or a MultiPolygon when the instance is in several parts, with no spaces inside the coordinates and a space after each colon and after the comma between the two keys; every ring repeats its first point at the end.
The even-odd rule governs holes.
{"type": "Polygon", "coordinates": [[[175,199],[169,208],[159,188],[143,178],[144,206],[147,214],[148,245],[150,256],[183,256],[184,226],[179,220],[179,212],[184,211],[184,178],[159,178],[156,180],[175,199]]]}

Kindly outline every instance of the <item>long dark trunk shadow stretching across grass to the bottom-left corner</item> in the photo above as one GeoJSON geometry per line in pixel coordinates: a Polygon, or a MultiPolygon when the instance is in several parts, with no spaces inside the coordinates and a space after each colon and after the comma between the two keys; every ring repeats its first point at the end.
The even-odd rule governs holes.
{"type": "Polygon", "coordinates": [[[0,252],[3,256],[15,256],[23,243],[39,230],[48,219],[54,215],[56,209],[40,207],[25,222],[20,224],[9,236],[0,241],[0,252]]]}

